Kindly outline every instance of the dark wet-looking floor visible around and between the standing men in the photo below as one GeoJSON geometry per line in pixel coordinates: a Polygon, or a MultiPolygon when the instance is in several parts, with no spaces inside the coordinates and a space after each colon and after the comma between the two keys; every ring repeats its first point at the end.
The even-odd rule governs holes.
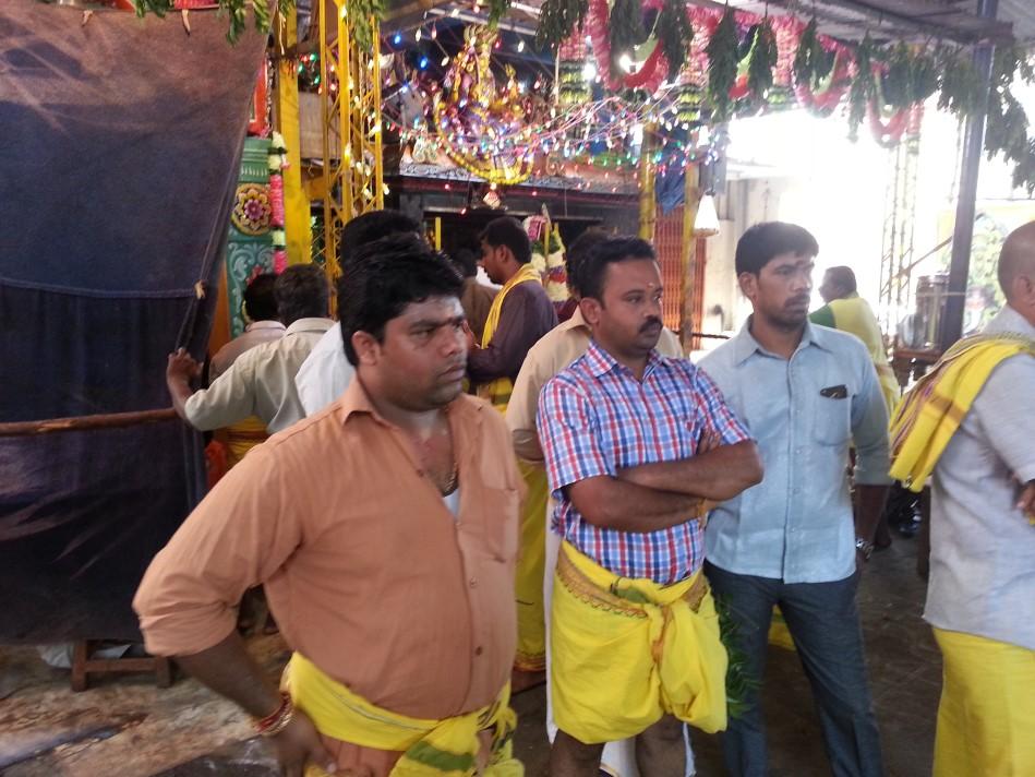
{"type": "MultiPolygon", "coordinates": [[[[941,659],[920,621],[924,585],[915,542],[874,557],[861,591],[870,680],[888,777],[930,774],[941,659]]],[[[277,637],[251,647],[276,671],[287,659],[277,637]]],[[[828,775],[808,684],[793,653],[772,648],[766,712],[773,777],[828,775]]],[[[528,777],[545,777],[542,689],[518,695],[518,756],[528,777]]],[[[723,774],[714,737],[694,734],[700,777],[723,774]]],[[[145,676],[92,682],[72,693],[68,672],[29,648],[0,647],[0,775],[4,777],[200,777],[278,774],[246,716],[189,679],[158,690],[145,676]]]]}

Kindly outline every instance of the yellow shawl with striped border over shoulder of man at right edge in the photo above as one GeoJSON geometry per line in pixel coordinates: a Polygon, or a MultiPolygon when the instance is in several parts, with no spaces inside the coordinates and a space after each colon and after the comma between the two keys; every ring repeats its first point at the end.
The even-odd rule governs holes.
{"type": "Polygon", "coordinates": [[[891,477],[919,493],[992,370],[1018,354],[1035,356],[1035,340],[1012,333],[979,334],[949,348],[891,420],[891,477]]]}

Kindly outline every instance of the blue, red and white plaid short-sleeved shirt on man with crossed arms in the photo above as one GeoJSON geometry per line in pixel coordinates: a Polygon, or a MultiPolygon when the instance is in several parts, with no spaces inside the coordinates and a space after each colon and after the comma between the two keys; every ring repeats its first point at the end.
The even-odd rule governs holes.
{"type": "Polygon", "coordinates": [[[643,534],[600,528],[579,515],[564,489],[640,464],[689,458],[706,434],[723,445],[750,440],[708,375],[689,360],[651,351],[640,382],[593,340],[543,386],[535,421],[557,501],[554,531],[623,577],[665,585],[700,569],[700,522],[687,516],[684,524],[643,534]]]}

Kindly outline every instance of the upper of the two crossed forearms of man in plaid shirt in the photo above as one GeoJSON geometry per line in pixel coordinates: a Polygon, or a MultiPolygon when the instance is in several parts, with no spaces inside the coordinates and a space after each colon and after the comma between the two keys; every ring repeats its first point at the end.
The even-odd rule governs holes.
{"type": "Polygon", "coordinates": [[[619,470],[637,486],[723,502],[761,482],[762,465],[753,442],[721,445],[690,458],[641,464],[619,470]]]}

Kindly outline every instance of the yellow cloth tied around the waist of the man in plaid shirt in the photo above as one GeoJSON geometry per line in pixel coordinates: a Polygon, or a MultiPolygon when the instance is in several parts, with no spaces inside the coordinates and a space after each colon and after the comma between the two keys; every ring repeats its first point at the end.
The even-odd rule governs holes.
{"type": "Polygon", "coordinates": [[[580,742],[633,737],[666,714],[726,727],[726,650],[699,572],[667,586],[618,577],[565,542],[550,648],[554,717],[580,742]]]}

